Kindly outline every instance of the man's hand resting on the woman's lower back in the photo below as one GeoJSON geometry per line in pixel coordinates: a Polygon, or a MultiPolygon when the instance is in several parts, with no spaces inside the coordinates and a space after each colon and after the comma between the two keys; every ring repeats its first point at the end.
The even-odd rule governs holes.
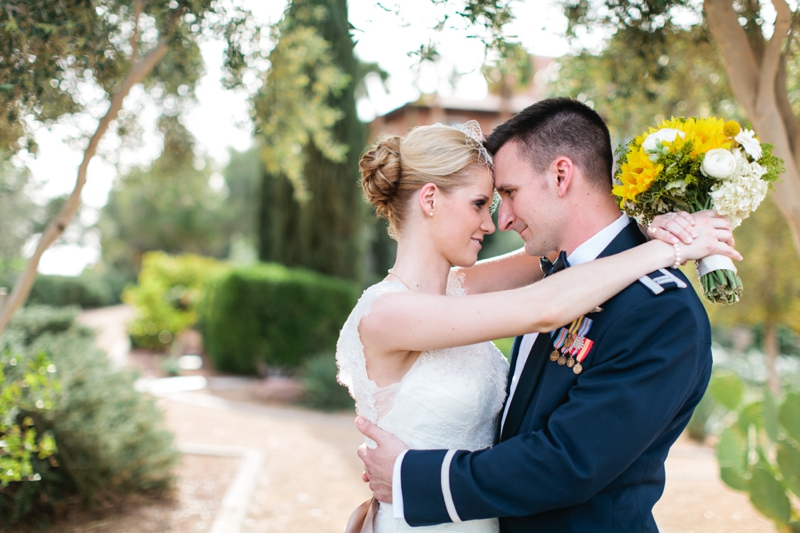
{"type": "Polygon", "coordinates": [[[383,431],[366,418],[356,418],[356,427],[374,440],[378,447],[368,448],[362,444],[358,448],[358,457],[364,461],[362,479],[369,482],[369,488],[378,501],[392,503],[392,474],[397,457],[408,447],[391,433],[383,431]]]}

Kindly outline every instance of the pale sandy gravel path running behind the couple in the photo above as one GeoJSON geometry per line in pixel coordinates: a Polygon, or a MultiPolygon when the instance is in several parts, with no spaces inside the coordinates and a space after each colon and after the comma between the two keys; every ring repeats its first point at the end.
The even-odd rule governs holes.
{"type": "MultiPolygon", "coordinates": [[[[120,346],[120,322],[131,316],[124,306],[109,311],[84,315],[85,322],[103,332],[106,349],[120,346]]],[[[183,393],[161,399],[160,405],[179,444],[248,447],[264,453],[265,467],[242,531],[340,533],[352,509],[370,496],[360,479],[362,466],[355,450],[362,437],[353,415],[241,401],[250,396],[245,391],[225,396],[183,393]]],[[[232,468],[224,475],[209,470],[209,481],[229,479],[232,468]]],[[[745,494],[719,480],[713,450],[684,439],[667,460],[667,485],[654,514],[662,533],[776,531],[745,494]]],[[[204,530],[198,526],[194,531],[204,530]]]]}

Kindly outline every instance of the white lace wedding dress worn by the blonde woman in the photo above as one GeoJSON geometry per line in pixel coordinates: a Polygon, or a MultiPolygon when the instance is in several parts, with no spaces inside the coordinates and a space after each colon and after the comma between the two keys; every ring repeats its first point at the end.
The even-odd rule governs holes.
{"type": "MultiPolygon", "coordinates": [[[[492,445],[497,415],[505,399],[508,363],[491,342],[423,352],[403,379],[387,387],[367,376],[358,324],[380,295],[408,288],[382,281],[364,291],[342,327],[336,345],[339,382],[356,401],[356,411],[412,449],[479,450],[492,445]]],[[[450,276],[447,294],[466,294],[450,276]]],[[[392,327],[391,324],[386,325],[392,327]]],[[[368,446],[374,442],[367,439],[368,446]]],[[[381,503],[376,533],[495,533],[497,519],[412,528],[381,503]]]]}

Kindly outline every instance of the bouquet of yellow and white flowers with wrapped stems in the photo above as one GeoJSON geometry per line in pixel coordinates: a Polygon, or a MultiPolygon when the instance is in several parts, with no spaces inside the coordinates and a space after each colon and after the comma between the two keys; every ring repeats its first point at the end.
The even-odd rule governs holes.
{"type": "MultiPolygon", "coordinates": [[[[642,224],[660,214],[713,209],[735,228],[785,170],[772,150],[733,120],[672,118],[617,149],[612,193],[642,224]]],[[[707,257],[697,271],[709,301],[739,300],[742,282],[730,259],[707,257]]]]}

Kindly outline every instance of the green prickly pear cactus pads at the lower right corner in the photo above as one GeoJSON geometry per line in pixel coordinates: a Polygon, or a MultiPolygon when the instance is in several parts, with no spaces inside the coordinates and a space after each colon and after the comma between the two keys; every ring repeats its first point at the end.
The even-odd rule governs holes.
{"type": "Polygon", "coordinates": [[[732,372],[717,373],[710,390],[729,410],[717,443],[722,481],[747,492],[779,531],[800,532],[800,393],[779,401],[764,389],[746,401],[744,383],[732,372]]]}

